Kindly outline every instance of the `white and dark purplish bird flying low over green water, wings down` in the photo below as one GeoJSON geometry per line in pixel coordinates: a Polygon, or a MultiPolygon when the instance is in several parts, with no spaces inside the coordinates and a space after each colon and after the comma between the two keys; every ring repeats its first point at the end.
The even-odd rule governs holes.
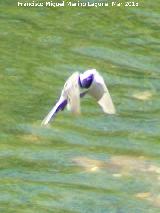
{"type": "Polygon", "coordinates": [[[74,72],[67,79],[58,101],[43,119],[42,125],[47,125],[59,111],[66,107],[74,115],[79,115],[81,113],[80,98],[86,94],[97,101],[104,113],[116,114],[115,106],[102,75],[96,69],[89,69],[83,73],[74,72]]]}

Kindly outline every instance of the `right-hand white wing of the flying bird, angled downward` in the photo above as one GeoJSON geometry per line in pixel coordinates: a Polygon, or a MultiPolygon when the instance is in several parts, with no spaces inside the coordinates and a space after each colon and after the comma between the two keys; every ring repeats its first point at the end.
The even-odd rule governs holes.
{"type": "Polygon", "coordinates": [[[89,94],[94,97],[98,104],[102,107],[103,111],[108,114],[115,114],[116,110],[109,94],[107,86],[103,77],[97,72],[94,75],[94,80],[89,88],[89,94]]]}

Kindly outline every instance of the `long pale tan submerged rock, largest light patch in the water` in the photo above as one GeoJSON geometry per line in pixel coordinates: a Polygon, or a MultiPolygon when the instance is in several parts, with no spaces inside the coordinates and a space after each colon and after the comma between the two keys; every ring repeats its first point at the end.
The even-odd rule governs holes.
{"type": "Polygon", "coordinates": [[[112,156],[106,161],[81,156],[73,158],[72,162],[88,172],[100,169],[110,171],[114,177],[133,175],[134,173],[148,173],[148,175],[158,175],[160,173],[160,167],[152,164],[143,156],[112,156]]]}

